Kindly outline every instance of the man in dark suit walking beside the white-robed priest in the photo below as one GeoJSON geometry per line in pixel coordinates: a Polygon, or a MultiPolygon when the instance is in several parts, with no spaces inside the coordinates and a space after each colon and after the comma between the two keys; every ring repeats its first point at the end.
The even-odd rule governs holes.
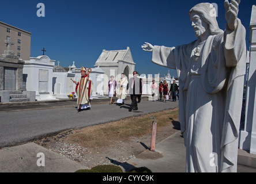
{"type": "Polygon", "coordinates": [[[129,79],[127,87],[129,89],[129,94],[131,95],[131,106],[129,108],[129,112],[131,112],[131,110],[138,110],[137,98],[142,94],[142,82],[140,78],[138,78],[137,71],[133,72],[133,78],[129,79]]]}

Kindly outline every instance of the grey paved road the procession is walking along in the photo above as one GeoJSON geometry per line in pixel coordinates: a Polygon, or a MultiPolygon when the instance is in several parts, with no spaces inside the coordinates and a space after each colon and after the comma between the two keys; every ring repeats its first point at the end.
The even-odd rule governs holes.
{"type": "MultiPolygon", "coordinates": [[[[58,105],[56,107],[54,103],[44,103],[29,106],[29,108],[28,106],[17,106],[17,108],[2,106],[0,108],[0,148],[49,136],[67,129],[83,128],[125,117],[176,108],[178,101],[164,103],[163,101],[143,100],[138,104],[138,110],[133,112],[128,111],[129,100],[126,100],[125,105],[118,106],[109,105],[108,101],[99,104],[93,99],[92,109],[80,113],[77,113],[76,101],[63,102],[58,105]]],[[[150,117],[149,122],[152,122],[150,117]]]]}

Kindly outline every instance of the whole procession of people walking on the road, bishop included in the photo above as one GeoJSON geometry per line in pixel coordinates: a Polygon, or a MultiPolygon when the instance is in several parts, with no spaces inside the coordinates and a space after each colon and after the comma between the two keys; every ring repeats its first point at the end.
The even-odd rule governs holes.
{"type": "MultiPolygon", "coordinates": [[[[79,81],[73,81],[76,83],[76,93],[77,93],[77,110],[80,112],[82,109],[90,109],[91,108],[91,99],[92,99],[92,90],[93,90],[93,82],[89,77],[89,71],[86,70],[85,67],[81,68],[81,78],[79,81]]],[[[125,76],[125,74],[121,74],[121,78],[115,81],[114,76],[110,76],[110,81],[108,81],[108,97],[110,97],[110,105],[114,104],[114,97],[117,99],[117,104],[119,106],[125,104],[125,98],[127,94],[130,95],[131,105],[129,108],[129,112],[132,110],[138,110],[138,103],[141,101],[142,95],[142,79],[138,77],[138,72],[133,72],[133,77],[129,80],[125,76]],[[130,90],[129,90],[130,89],[130,90]],[[129,92],[128,92],[129,91],[129,92]],[[138,99],[138,101],[137,101],[138,99]]],[[[152,81],[150,85],[150,89],[152,91],[152,99],[153,101],[159,99],[157,95],[158,85],[155,83],[155,80],[152,81]]],[[[160,99],[162,98],[162,93],[164,96],[164,102],[168,100],[168,94],[171,92],[172,101],[176,101],[176,94],[179,91],[178,85],[171,85],[170,89],[166,81],[164,83],[160,83],[159,85],[159,94],[160,99]]],[[[179,97],[179,96],[178,96],[179,97]]]]}

